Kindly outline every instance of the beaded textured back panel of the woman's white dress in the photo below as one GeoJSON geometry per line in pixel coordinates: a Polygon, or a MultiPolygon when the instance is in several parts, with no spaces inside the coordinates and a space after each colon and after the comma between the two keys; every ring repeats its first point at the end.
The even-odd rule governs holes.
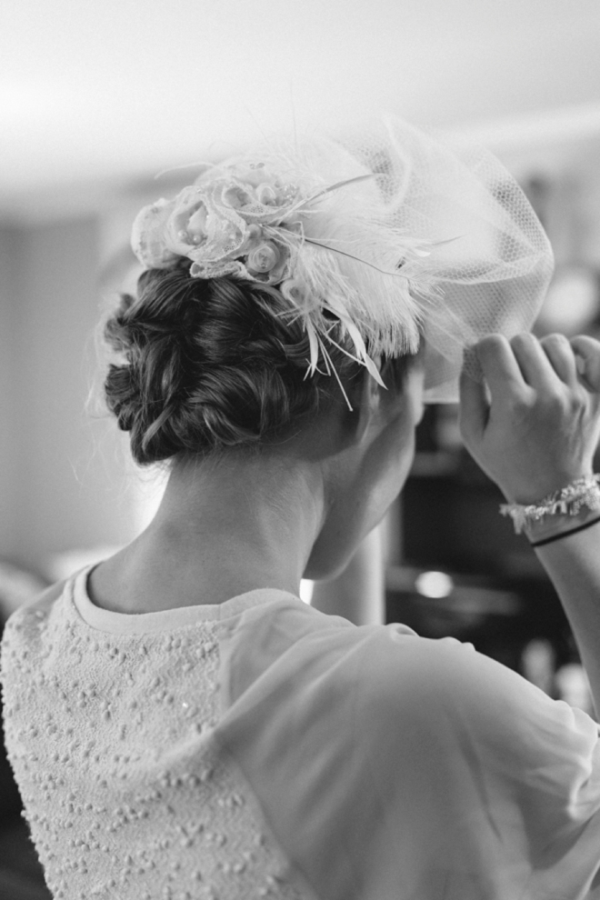
{"type": "Polygon", "coordinates": [[[10,619],[5,739],[56,898],[305,896],[215,742],[219,627],[105,634],[63,598],[10,619]]]}

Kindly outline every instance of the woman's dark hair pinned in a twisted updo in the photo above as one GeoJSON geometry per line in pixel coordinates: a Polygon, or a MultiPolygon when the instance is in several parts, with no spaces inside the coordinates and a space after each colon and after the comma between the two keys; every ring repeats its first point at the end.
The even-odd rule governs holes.
{"type": "MultiPolygon", "coordinates": [[[[308,337],[275,288],[192,278],[185,261],[143,273],[137,294],[122,295],[105,325],[125,356],[109,366],[105,396],[140,465],[284,436],[332,395],[335,376],[305,377],[308,337]]],[[[344,345],[335,324],[332,336],[344,345]]],[[[364,371],[328,352],[343,380],[364,371]]]]}

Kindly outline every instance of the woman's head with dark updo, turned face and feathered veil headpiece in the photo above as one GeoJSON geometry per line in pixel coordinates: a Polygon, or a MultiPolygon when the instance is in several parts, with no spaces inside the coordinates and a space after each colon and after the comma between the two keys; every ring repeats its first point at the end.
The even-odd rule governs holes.
{"type": "Polygon", "coordinates": [[[452,399],[465,345],[526,328],[551,269],[495,161],[396,120],[205,165],[140,211],[132,246],[146,271],[106,325],[105,389],[135,459],[316,458],[317,573],[402,487],[424,387],[452,399]]]}

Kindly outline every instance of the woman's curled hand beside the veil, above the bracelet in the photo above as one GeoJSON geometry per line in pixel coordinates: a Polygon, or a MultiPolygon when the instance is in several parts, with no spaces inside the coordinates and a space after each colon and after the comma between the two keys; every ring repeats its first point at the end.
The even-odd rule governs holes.
{"type": "Polygon", "coordinates": [[[485,385],[463,374],[465,446],[510,503],[538,503],[591,475],[600,439],[600,343],[564,335],[485,337],[485,385]]]}

